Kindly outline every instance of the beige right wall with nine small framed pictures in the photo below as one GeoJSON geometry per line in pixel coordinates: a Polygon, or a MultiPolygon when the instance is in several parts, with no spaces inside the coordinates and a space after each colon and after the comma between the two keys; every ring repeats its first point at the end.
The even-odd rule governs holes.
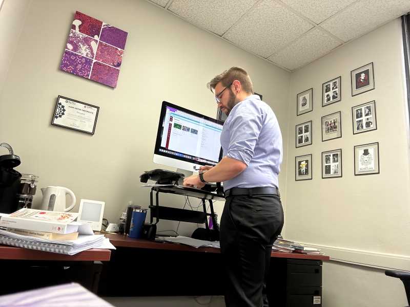
{"type": "MultiPolygon", "coordinates": [[[[409,129],[401,35],[397,19],[292,73],[286,236],[315,244],[335,259],[410,270],[409,129]],[[376,88],[352,97],[350,72],[369,62],[374,62],[376,88]],[[322,107],[322,83],[340,75],[341,101],[322,107]],[[297,93],[311,87],[313,112],[296,116],[297,93]],[[371,100],[376,101],[377,130],[353,135],[352,106],[371,100]],[[338,111],[342,138],[322,142],[321,117],[338,111]],[[295,148],[295,125],[309,120],[313,121],[313,144],[295,148]],[[380,174],[354,176],[353,147],[373,142],[379,142],[380,174]],[[322,179],[321,152],[338,148],[342,148],[343,177],[322,179]],[[313,180],[296,182],[295,157],[309,153],[313,180]]],[[[325,306],[405,303],[404,291],[398,297],[389,296],[391,304],[380,303],[389,291],[403,290],[397,280],[383,279],[382,270],[375,273],[334,263],[325,264],[323,272],[325,306]],[[373,295],[361,302],[366,292],[373,295]]]]}

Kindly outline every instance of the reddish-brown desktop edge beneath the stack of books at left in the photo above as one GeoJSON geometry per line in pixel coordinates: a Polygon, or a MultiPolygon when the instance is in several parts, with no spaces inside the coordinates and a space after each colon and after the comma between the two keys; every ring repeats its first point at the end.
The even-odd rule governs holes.
{"type": "Polygon", "coordinates": [[[93,248],[75,255],[64,255],[0,245],[0,259],[9,260],[56,260],[56,261],[109,261],[111,251],[93,248]]]}

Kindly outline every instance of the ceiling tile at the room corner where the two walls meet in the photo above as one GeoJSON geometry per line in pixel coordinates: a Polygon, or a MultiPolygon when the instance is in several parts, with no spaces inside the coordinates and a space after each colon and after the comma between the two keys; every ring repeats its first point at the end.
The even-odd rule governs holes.
{"type": "Polygon", "coordinates": [[[341,43],[338,40],[316,28],[269,57],[268,60],[286,69],[294,70],[320,58],[339,45],[341,43]]]}

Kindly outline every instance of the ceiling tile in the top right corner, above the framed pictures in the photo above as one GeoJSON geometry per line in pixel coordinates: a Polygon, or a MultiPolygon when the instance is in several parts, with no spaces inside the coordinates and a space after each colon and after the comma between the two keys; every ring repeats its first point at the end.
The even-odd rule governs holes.
{"type": "Polygon", "coordinates": [[[410,11],[409,0],[362,0],[327,19],[321,27],[344,41],[359,37],[410,11]]]}

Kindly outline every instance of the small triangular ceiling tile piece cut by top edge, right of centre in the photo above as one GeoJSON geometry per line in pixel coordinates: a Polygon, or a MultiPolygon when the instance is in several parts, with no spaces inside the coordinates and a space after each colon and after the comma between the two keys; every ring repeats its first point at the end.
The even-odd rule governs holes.
{"type": "Polygon", "coordinates": [[[355,1],[356,0],[282,0],[283,3],[308,17],[316,24],[320,24],[323,20],[335,15],[338,11],[355,1]]]}

